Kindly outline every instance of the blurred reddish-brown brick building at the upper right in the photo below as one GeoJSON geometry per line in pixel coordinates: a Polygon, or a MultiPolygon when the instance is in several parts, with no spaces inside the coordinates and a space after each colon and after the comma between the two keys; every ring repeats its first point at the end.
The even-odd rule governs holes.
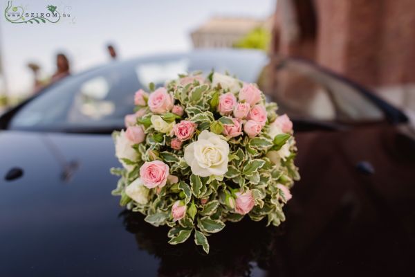
{"type": "Polygon", "coordinates": [[[272,54],[304,57],[415,107],[415,1],[278,0],[276,14],[272,54]]]}

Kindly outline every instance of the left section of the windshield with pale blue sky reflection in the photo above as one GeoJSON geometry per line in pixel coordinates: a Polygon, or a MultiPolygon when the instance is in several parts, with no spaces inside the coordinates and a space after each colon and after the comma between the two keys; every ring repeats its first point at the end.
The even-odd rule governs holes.
{"type": "Polygon", "coordinates": [[[149,82],[159,87],[178,73],[201,70],[208,75],[212,69],[256,82],[267,62],[259,51],[225,50],[116,62],[55,84],[19,111],[10,129],[118,129],[133,112],[135,91],[147,89],[149,82]]]}

